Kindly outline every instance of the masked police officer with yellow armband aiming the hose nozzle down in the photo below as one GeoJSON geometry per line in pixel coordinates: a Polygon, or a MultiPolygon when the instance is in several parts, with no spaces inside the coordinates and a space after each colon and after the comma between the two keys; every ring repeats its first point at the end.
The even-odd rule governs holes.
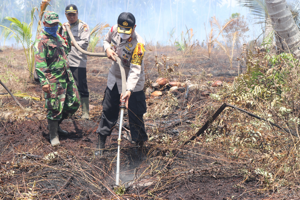
{"type": "Polygon", "coordinates": [[[143,114],[146,113],[146,96],[143,92],[145,41],[134,31],[135,27],[133,14],[123,12],[119,15],[118,24],[109,30],[103,41],[107,57],[113,62],[107,78],[101,121],[96,131],[98,150],[95,151],[95,155],[102,155],[106,138],[116,125],[121,98],[126,100],[132,140],[143,147],[148,139],[143,121],[143,114]],[[125,68],[127,88],[125,94],[122,94],[121,71],[114,55],[122,60],[125,68]]]}

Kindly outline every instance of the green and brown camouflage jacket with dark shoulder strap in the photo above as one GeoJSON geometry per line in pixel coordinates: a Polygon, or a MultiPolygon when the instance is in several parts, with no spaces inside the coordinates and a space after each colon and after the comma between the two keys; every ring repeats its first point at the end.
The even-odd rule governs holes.
{"type": "Polygon", "coordinates": [[[67,32],[63,35],[66,39],[57,34],[60,49],[58,49],[57,59],[50,63],[49,66],[47,66],[46,60],[50,59],[55,53],[56,38],[42,30],[41,35],[35,40],[35,70],[42,85],[73,80],[67,59],[68,50],[71,48],[71,39],[67,32]]]}

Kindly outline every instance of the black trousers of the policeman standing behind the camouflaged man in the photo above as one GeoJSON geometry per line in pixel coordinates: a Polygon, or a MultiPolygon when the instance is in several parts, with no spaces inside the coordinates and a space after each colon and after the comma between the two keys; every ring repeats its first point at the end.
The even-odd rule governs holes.
{"type": "Polygon", "coordinates": [[[85,67],[70,67],[80,97],[89,97],[85,67]]]}

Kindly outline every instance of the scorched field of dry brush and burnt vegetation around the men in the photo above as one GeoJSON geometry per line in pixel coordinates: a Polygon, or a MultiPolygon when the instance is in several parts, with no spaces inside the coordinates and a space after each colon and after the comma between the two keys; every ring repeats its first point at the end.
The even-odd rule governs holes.
{"type": "MultiPolygon", "coordinates": [[[[125,115],[117,188],[118,123],[104,156],[94,155],[111,62],[88,56],[90,119],[79,108],[52,147],[44,94],[24,68],[28,52],[3,49],[0,79],[24,109],[0,87],[0,200],[299,198],[299,59],[275,52],[272,33],[241,44],[247,23],[238,14],[210,26],[203,46],[187,27],[181,40],[170,32],[167,46],[147,43],[149,141],[137,152],[125,115]],[[234,107],[215,114],[224,103],[264,121],[234,107]]],[[[97,42],[91,49],[101,52],[97,42]]]]}

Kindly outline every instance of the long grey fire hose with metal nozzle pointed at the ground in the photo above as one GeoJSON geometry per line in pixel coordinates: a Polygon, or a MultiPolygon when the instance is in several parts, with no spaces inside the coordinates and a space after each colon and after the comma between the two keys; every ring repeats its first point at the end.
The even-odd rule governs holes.
{"type": "MultiPolygon", "coordinates": [[[[73,42],[75,48],[85,54],[85,55],[88,55],[88,56],[97,56],[97,57],[107,57],[107,54],[106,53],[93,53],[93,52],[88,52],[88,51],[85,51],[83,50],[81,47],[79,47],[79,45],[77,44],[77,42],[75,41],[75,38],[70,30],[70,27],[69,26],[65,26],[66,29],[67,29],[67,32],[71,38],[71,41],[73,42]]],[[[125,70],[124,70],[124,66],[121,62],[121,59],[118,57],[118,56],[114,56],[117,63],[119,64],[119,67],[120,67],[120,71],[121,71],[121,76],[122,76],[122,93],[123,95],[125,95],[125,92],[126,92],[126,76],[125,76],[125,70]]],[[[116,171],[116,186],[119,186],[119,174],[120,174],[120,144],[121,144],[121,132],[122,132],[122,124],[123,124],[123,115],[124,115],[124,111],[126,109],[126,102],[125,100],[123,100],[120,104],[120,111],[121,111],[121,114],[120,114],[120,128],[119,128],[119,138],[118,138],[118,154],[117,154],[117,171],[116,171]]]]}

